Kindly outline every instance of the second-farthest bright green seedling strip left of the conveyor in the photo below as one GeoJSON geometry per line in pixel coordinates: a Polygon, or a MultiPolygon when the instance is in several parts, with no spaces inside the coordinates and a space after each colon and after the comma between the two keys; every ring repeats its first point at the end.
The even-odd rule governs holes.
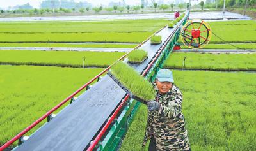
{"type": "Polygon", "coordinates": [[[120,42],[141,43],[154,32],[92,32],[92,33],[0,33],[1,42],[120,42]]]}

